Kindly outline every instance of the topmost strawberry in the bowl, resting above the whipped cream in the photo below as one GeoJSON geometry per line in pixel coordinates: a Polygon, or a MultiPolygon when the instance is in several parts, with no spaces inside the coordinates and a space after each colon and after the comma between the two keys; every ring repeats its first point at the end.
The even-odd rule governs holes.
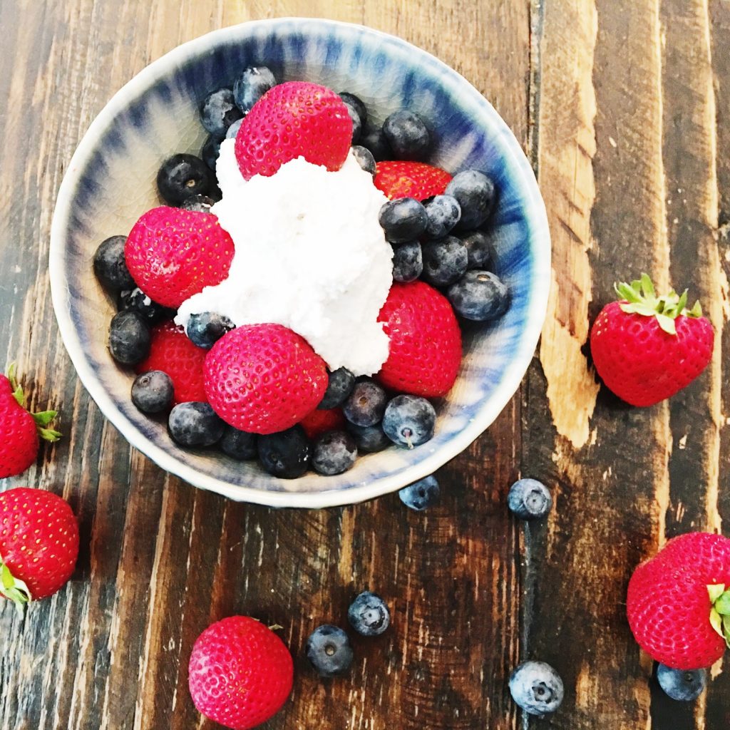
{"type": "Polygon", "coordinates": [[[241,174],[270,177],[297,157],[339,170],[350,151],[353,121],[334,91],[288,81],[267,91],[245,116],[236,135],[241,174]]]}

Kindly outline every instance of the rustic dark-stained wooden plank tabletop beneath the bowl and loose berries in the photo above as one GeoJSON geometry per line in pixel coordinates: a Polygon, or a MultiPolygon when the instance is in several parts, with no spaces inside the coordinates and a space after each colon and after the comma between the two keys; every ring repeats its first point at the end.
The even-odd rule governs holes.
{"type": "MultiPolygon", "coordinates": [[[[191,645],[208,623],[280,623],[296,661],[269,728],[722,730],[730,675],[669,701],[626,624],[632,569],[667,537],[730,519],[730,3],[724,0],[0,0],[0,344],[64,439],[4,488],[63,494],[81,524],[72,582],[26,618],[0,606],[4,730],[188,730],[191,645]],[[539,175],[553,296],[520,391],[439,471],[426,513],[396,495],[301,512],[236,504],[166,475],[88,398],[55,326],[47,277],[55,194],[93,117],[175,45],[252,18],[321,15],[398,34],[464,74],[539,175]],[[718,334],[680,395],[629,408],[599,390],[588,324],[618,277],[690,287],[718,334]],[[556,509],[505,507],[519,475],[556,509]],[[356,641],[349,677],[302,650],[350,599],[388,599],[393,629],[356,641]],[[566,697],[526,721],[507,677],[539,658],[566,697]]],[[[726,528],[727,530],[727,528],[726,528]]]]}

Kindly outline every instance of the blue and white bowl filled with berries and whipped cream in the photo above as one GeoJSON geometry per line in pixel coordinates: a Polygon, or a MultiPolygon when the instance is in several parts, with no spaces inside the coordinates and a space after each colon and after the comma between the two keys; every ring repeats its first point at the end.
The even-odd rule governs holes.
{"type": "Polygon", "coordinates": [[[378,31],[284,18],[147,66],[66,172],[50,244],[66,349],[159,466],[327,507],[430,475],[534,353],[550,237],[509,128],[378,31]]]}

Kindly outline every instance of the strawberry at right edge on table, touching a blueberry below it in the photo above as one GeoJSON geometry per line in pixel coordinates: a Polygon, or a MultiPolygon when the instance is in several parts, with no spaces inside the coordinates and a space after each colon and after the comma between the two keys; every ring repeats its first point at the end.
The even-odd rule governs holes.
{"type": "Polygon", "coordinates": [[[730,645],[730,539],[689,532],[669,540],[629,580],[629,626],[651,658],[702,669],[730,645]]]}

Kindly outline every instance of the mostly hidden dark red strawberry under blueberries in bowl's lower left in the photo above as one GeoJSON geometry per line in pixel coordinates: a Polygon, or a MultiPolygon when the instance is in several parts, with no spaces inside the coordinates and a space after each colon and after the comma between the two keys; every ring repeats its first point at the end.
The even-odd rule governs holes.
{"type": "Polygon", "coordinates": [[[166,372],[175,389],[173,405],[205,401],[203,363],[207,354],[207,350],[193,345],[182,327],[174,322],[164,322],[153,328],[150,354],[136,370],[138,373],[166,372]]]}

